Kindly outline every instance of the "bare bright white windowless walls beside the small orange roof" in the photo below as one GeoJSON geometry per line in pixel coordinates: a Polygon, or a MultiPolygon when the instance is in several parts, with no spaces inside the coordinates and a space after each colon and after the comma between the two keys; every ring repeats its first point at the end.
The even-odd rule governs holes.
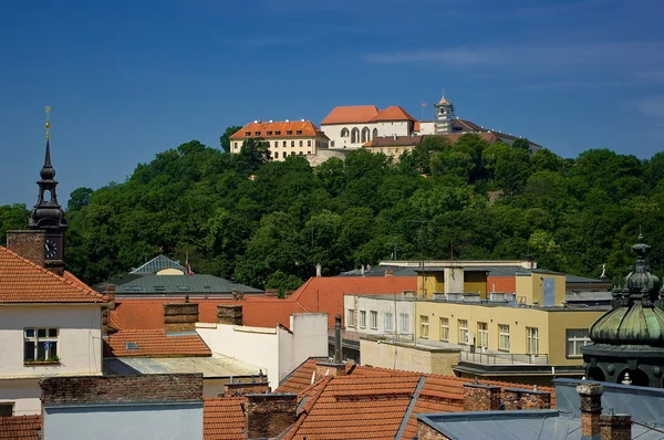
{"type": "Polygon", "coordinates": [[[328,356],[328,314],[291,315],[291,329],[197,323],[196,332],[214,353],[263,369],[272,389],[311,356],[328,356]]]}

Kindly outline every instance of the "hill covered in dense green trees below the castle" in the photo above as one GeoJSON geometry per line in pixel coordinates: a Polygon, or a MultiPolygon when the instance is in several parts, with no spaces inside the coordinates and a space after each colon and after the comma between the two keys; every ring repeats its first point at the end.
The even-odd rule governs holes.
{"type": "MultiPolygon", "coordinates": [[[[311,168],[264,161],[250,142],[229,155],[193,140],[139,164],[124,184],[76,189],[68,206],[69,269],[92,284],[163,253],[195,272],[264,287],[297,285],[321,263],[335,275],[393,258],[519,259],[618,281],[642,226],[664,265],[664,154],[606,149],[562,159],[525,144],[466,135],[426,140],[393,164],[352,151],[311,168]],[[430,177],[423,177],[428,174],[430,177]],[[250,176],[253,176],[250,179],[250,176]],[[489,202],[488,191],[504,197],[489,202]]],[[[27,224],[0,207],[0,233],[27,224]]]]}

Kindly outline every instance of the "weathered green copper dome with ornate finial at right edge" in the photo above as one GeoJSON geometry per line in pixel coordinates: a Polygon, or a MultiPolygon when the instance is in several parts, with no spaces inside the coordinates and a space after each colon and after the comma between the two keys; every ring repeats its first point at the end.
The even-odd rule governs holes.
{"type": "Polygon", "coordinates": [[[650,245],[642,241],[640,234],[632,247],[639,258],[625,276],[624,287],[613,290],[613,308],[590,327],[595,344],[664,347],[664,311],[657,301],[660,279],[645,264],[650,245]]]}

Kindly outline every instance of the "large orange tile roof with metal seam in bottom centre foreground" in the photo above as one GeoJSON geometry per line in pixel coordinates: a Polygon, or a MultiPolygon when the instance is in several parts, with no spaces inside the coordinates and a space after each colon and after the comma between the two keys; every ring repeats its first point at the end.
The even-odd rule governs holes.
{"type": "MultiPolygon", "coordinates": [[[[394,439],[400,428],[403,428],[401,438],[412,439],[417,432],[416,415],[463,411],[464,384],[470,383],[455,376],[346,365],[346,376],[326,377],[311,385],[318,362],[303,363],[276,390],[299,392],[300,399],[304,399],[299,420],[284,439],[394,439]],[[412,399],[414,407],[408,413],[412,399]]],[[[479,383],[531,388],[495,380],[479,383]]],[[[554,407],[554,389],[539,390],[551,391],[554,407]]]]}

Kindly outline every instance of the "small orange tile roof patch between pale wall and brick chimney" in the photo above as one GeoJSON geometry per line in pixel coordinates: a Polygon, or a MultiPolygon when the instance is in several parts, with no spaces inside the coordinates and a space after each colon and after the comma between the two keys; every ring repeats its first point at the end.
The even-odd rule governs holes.
{"type": "Polygon", "coordinates": [[[204,440],[245,440],[245,397],[206,398],[203,406],[204,440]]]}

